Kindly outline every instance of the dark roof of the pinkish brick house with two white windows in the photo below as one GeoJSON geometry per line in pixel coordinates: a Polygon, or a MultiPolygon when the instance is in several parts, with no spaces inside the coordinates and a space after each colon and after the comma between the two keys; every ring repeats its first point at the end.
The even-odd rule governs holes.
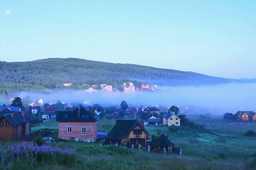
{"type": "Polygon", "coordinates": [[[99,120],[97,114],[86,111],[83,107],[78,107],[74,111],[57,111],[56,121],[58,122],[95,122],[99,120]],[[78,117],[78,110],[80,115],[78,117]]]}

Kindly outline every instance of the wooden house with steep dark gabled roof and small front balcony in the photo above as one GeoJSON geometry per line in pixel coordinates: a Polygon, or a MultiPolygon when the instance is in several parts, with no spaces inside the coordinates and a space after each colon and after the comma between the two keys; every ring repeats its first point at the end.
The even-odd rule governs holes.
{"type": "Polygon", "coordinates": [[[116,120],[116,125],[106,136],[106,144],[127,145],[130,143],[134,148],[139,144],[146,147],[148,131],[137,120],[116,120]],[[129,142],[128,142],[129,141],[129,142]]]}

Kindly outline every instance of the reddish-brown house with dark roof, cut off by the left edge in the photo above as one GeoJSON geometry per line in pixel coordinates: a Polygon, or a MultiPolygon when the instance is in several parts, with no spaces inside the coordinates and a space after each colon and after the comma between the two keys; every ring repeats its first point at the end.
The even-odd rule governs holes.
{"type": "Polygon", "coordinates": [[[0,112],[0,138],[11,140],[30,136],[31,121],[25,111],[0,112]]]}

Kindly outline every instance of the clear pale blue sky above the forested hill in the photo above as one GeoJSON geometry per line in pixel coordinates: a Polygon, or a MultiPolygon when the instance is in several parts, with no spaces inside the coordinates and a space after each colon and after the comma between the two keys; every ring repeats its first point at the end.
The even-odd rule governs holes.
{"type": "Polygon", "coordinates": [[[0,61],[54,57],[256,78],[256,0],[0,0],[0,61]]]}

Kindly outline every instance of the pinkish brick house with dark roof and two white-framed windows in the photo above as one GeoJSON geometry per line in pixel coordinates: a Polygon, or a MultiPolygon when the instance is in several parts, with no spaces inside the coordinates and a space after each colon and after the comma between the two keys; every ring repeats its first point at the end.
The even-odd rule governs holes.
{"type": "Polygon", "coordinates": [[[59,122],[58,137],[67,140],[97,139],[97,121],[95,112],[78,107],[74,111],[58,111],[56,121],[59,122]]]}

